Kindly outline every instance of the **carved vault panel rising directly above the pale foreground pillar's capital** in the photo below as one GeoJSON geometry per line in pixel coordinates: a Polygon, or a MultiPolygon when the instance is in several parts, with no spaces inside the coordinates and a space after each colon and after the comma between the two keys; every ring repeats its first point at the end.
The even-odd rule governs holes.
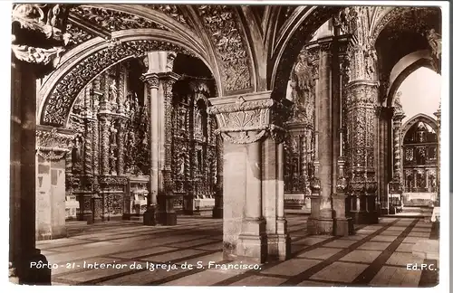
{"type": "Polygon", "coordinates": [[[198,5],[197,8],[218,56],[225,90],[251,89],[250,57],[236,24],[234,8],[228,5],[198,5]]]}

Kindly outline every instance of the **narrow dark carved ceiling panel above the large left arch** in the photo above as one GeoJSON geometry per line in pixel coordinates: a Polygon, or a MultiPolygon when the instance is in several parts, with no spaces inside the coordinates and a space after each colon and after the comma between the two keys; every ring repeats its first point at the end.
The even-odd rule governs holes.
{"type": "Polygon", "coordinates": [[[168,31],[165,26],[151,22],[143,17],[101,7],[79,5],[72,8],[71,12],[73,14],[79,14],[94,24],[101,25],[111,32],[140,28],[168,31]]]}

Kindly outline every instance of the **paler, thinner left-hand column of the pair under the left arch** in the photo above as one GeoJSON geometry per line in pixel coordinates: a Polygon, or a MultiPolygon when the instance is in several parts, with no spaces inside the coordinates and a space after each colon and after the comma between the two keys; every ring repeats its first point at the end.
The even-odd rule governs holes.
{"type": "MultiPolygon", "coordinates": [[[[150,58],[149,62],[151,62],[150,58]]],[[[159,194],[159,76],[156,73],[147,72],[142,80],[145,82],[145,99],[149,101],[149,146],[151,147],[149,200],[147,211],[143,214],[143,223],[156,225],[159,194]]]]}

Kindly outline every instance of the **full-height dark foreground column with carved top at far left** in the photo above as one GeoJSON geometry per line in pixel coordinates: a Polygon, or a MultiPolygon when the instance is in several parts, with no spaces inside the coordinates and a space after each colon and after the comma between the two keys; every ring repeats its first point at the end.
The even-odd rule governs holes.
{"type": "Polygon", "coordinates": [[[36,186],[30,183],[36,178],[36,80],[53,71],[63,55],[70,7],[14,4],[12,9],[9,278],[19,284],[51,284],[51,269],[35,246],[36,186]],[[31,265],[38,261],[40,269],[31,265]]]}

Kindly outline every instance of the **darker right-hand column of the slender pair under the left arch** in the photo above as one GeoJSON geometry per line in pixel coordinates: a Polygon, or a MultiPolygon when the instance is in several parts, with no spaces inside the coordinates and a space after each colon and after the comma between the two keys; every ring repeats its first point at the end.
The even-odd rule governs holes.
{"type": "Polygon", "coordinates": [[[173,226],[177,215],[173,209],[171,170],[171,113],[173,111],[173,84],[179,80],[174,72],[159,73],[159,223],[173,226]],[[167,188],[166,188],[167,186],[167,188]]]}

